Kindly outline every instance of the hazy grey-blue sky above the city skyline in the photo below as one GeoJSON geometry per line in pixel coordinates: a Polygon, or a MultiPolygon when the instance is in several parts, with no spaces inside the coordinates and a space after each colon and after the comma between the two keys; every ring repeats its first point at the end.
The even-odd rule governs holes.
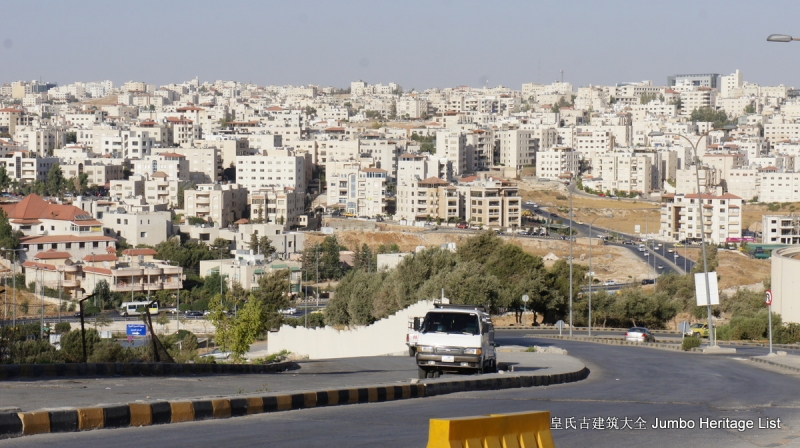
{"type": "Polygon", "coordinates": [[[800,1],[0,0],[0,83],[199,76],[414,87],[652,80],[741,70],[800,87],[800,1]]]}

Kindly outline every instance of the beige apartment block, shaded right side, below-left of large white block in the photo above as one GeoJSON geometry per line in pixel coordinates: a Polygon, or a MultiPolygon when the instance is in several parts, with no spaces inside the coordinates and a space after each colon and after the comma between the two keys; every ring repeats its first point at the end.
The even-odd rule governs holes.
{"type": "Polygon", "coordinates": [[[242,218],[247,210],[247,190],[238,184],[199,184],[184,190],[185,216],[195,216],[228,227],[242,218]]]}

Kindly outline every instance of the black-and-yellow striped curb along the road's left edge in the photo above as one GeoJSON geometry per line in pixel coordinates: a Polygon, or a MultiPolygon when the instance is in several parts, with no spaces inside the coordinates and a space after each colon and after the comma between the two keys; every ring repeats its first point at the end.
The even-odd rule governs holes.
{"type": "Polygon", "coordinates": [[[553,375],[498,375],[470,380],[331,389],[293,394],[136,402],[78,409],[0,413],[0,439],[53,432],[127,428],[207,419],[241,417],[323,406],[435,397],[466,391],[549,386],[586,379],[589,369],[553,375]]]}

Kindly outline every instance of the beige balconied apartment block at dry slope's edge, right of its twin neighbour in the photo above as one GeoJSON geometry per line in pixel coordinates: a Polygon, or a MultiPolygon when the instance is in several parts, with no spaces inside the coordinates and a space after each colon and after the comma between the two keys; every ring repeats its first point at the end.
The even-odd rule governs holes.
{"type": "Polygon", "coordinates": [[[462,178],[456,188],[463,207],[460,214],[470,224],[494,228],[522,224],[522,199],[511,182],[481,174],[462,178]]]}

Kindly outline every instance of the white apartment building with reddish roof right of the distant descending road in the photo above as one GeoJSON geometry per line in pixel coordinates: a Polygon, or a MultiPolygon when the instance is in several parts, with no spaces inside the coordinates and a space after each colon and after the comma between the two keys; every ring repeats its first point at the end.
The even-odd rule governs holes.
{"type": "Polygon", "coordinates": [[[659,235],[673,241],[700,241],[700,232],[704,232],[712,244],[725,243],[728,238],[738,241],[742,237],[741,208],[742,198],[730,193],[702,197],[666,194],[661,198],[659,235]]]}

